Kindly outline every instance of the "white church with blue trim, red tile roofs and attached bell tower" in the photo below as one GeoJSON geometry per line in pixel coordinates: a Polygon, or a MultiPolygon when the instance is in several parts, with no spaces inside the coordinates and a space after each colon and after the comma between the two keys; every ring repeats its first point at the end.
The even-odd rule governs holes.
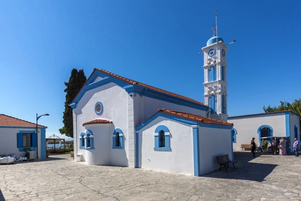
{"type": "Polygon", "coordinates": [[[249,143],[257,128],[246,132],[244,117],[227,122],[223,39],[212,37],[202,50],[205,104],[95,68],[70,104],[75,160],[199,176],[219,167],[216,156],[233,159],[233,145],[249,143]]]}

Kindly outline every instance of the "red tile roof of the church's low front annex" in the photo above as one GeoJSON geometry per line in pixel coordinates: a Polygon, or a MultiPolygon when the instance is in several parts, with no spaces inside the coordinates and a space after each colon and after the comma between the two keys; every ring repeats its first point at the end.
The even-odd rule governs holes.
{"type": "MultiPolygon", "coordinates": [[[[194,115],[194,114],[190,114],[190,113],[183,113],[183,112],[178,112],[178,111],[173,111],[173,110],[159,109],[159,110],[157,110],[156,113],[164,113],[164,114],[167,114],[167,115],[173,115],[175,117],[180,117],[180,118],[184,118],[184,119],[195,121],[195,122],[233,126],[232,123],[227,123],[227,122],[211,119],[211,118],[208,118],[208,117],[203,117],[203,116],[200,116],[200,115],[194,115]]],[[[152,116],[154,116],[154,115],[152,115],[152,116]]],[[[152,117],[152,116],[150,116],[150,117],[152,117]]],[[[147,121],[148,119],[146,119],[145,121],[147,121]]],[[[144,122],[142,122],[141,124],[143,124],[144,122]]]]}

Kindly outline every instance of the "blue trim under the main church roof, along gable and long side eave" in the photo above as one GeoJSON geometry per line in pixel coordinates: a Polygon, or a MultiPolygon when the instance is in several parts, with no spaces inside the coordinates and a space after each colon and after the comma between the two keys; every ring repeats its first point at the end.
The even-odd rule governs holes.
{"type": "MultiPolygon", "coordinates": [[[[98,76],[100,76],[100,75],[104,76],[104,74],[100,73],[99,71],[95,71],[95,70],[93,71],[91,76],[94,76],[93,75],[94,73],[97,73],[98,76]]],[[[87,83],[90,83],[91,76],[90,76],[89,80],[87,81],[87,83]]],[[[166,94],[164,92],[154,91],[154,90],[149,89],[149,88],[147,88],[147,90],[145,90],[145,87],[143,87],[143,86],[140,86],[140,85],[137,85],[137,84],[128,84],[126,82],[123,82],[119,79],[116,79],[114,77],[110,77],[110,76],[107,76],[107,75],[103,79],[100,79],[96,82],[92,82],[90,84],[86,84],[85,86],[83,86],[83,88],[79,91],[79,93],[75,97],[74,101],[69,106],[72,109],[76,109],[77,103],[83,97],[83,95],[85,94],[86,91],[97,88],[97,87],[105,85],[105,84],[108,84],[110,82],[114,82],[115,84],[123,87],[125,89],[125,91],[127,91],[128,93],[134,92],[134,93],[137,93],[139,95],[144,93],[144,96],[159,99],[159,100],[163,100],[163,101],[168,102],[168,103],[173,103],[173,104],[177,104],[177,105],[181,105],[181,106],[187,106],[187,107],[190,107],[190,108],[203,110],[203,111],[208,111],[209,110],[209,107],[207,107],[203,104],[198,104],[198,103],[195,103],[195,102],[191,102],[189,100],[179,98],[179,97],[176,97],[176,96],[173,96],[173,95],[169,95],[169,94],[166,94]]]]}

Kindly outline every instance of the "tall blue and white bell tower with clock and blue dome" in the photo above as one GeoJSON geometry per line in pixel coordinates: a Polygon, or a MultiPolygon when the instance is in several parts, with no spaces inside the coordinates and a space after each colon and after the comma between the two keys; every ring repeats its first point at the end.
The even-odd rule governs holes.
{"type": "Polygon", "coordinates": [[[210,117],[227,121],[227,50],[224,40],[214,36],[207,41],[204,51],[204,98],[211,108],[210,117]]]}

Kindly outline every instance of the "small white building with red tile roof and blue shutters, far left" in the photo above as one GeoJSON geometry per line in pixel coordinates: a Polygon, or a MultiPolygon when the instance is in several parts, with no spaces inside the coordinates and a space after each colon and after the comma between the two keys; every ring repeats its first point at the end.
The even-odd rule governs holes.
{"type": "Polygon", "coordinates": [[[46,128],[25,120],[0,114],[0,155],[19,154],[25,157],[24,148],[30,148],[30,158],[46,158],[46,128]]]}

